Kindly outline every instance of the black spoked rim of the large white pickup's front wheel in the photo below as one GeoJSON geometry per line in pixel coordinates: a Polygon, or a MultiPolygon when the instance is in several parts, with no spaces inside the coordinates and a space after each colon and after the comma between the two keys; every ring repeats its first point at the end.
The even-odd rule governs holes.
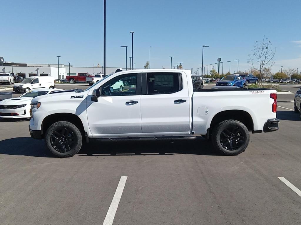
{"type": "Polygon", "coordinates": [[[77,138],[69,128],[57,128],[50,136],[51,146],[57,152],[69,152],[77,143],[77,138]]]}

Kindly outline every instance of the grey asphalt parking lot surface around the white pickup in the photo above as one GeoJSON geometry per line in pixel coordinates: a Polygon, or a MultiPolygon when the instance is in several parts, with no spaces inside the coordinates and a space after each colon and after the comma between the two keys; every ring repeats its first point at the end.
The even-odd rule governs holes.
{"type": "Polygon", "coordinates": [[[300,223],[301,193],[286,182],[301,189],[293,98],[278,95],[279,131],[250,134],[238,156],[221,156],[200,137],[95,141],[54,158],[30,138],[28,121],[1,120],[0,224],[111,224],[114,211],[114,225],[300,223]]]}

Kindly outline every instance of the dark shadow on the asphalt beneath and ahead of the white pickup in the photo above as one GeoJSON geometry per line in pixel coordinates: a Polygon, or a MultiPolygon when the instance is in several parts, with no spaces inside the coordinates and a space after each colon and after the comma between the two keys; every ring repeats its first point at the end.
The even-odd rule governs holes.
{"type": "MultiPolygon", "coordinates": [[[[55,157],[46,149],[44,140],[30,137],[17,137],[0,141],[0,154],[25,155],[33,157],[55,157]]],[[[115,156],[118,155],[220,155],[211,142],[198,137],[195,140],[133,140],[105,141],[93,140],[85,144],[79,156],[115,156]]]]}

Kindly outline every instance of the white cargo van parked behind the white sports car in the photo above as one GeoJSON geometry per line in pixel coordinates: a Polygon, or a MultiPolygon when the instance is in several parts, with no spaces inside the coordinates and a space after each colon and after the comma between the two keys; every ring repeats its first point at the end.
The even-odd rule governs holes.
{"type": "Polygon", "coordinates": [[[55,88],[53,76],[34,76],[24,79],[21,83],[14,84],[15,92],[27,92],[39,88],[55,88]]]}

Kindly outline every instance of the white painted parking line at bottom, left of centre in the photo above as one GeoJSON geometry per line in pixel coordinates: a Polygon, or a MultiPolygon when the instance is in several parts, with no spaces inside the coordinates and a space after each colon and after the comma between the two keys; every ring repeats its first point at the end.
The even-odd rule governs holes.
{"type": "Polygon", "coordinates": [[[126,176],[120,177],[114,197],[112,199],[111,205],[109,207],[109,210],[107,211],[107,215],[104,218],[104,223],[102,225],[112,225],[113,224],[114,217],[115,217],[118,205],[119,205],[119,201],[121,199],[121,195],[123,193],[124,186],[126,185],[127,178],[128,177],[126,177],[126,176]]]}

